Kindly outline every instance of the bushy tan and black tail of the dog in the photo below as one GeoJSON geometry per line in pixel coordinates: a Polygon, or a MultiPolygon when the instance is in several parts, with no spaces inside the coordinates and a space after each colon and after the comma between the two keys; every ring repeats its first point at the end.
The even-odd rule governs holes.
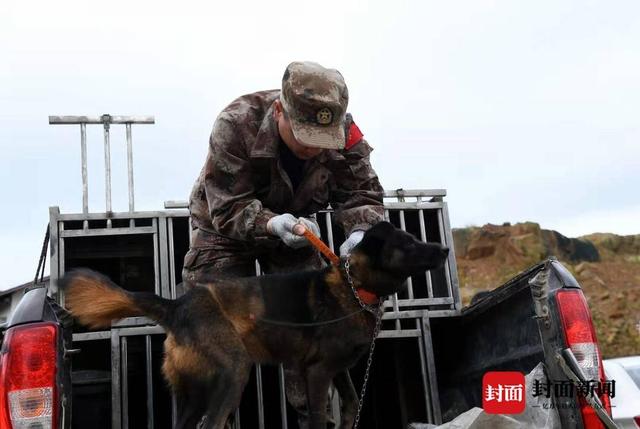
{"type": "Polygon", "coordinates": [[[58,280],[65,307],[83,325],[108,328],[125,317],[147,316],[163,324],[173,301],[151,292],[128,292],[95,271],[74,270],[58,280]]]}

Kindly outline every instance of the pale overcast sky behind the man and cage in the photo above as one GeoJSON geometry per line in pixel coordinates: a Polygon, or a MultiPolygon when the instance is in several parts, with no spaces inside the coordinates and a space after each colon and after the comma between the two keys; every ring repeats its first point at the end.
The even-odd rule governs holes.
{"type": "MultiPolygon", "coordinates": [[[[637,1],[0,2],[0,289],[33,277],[48,207],[82,208],[78,126],[134,127],[138,209],[185,200],[218,112],[286,65],[339,69],[386,189],[446,188],[453,226],[640,233],[637,1]]],[[[104,211],[90,127],[90,209],[104,211]]],[[[127,210],[124,130],[114,209],[127,210]]]]}

